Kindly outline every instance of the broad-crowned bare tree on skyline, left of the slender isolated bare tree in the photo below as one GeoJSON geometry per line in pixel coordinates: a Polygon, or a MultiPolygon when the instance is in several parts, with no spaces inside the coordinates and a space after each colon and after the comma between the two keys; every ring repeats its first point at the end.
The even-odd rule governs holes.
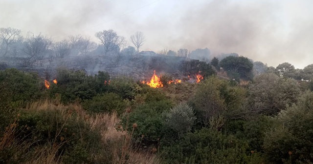
{"type": "Polygon", "coordinates": [[[109,55],[109,52],[116,53],[116,51],[119,51],[120,46],[125,41],[124,37],[118,36],[112,29],[97,32],[95,36],[100,40],[105,55],[109,55]]]}

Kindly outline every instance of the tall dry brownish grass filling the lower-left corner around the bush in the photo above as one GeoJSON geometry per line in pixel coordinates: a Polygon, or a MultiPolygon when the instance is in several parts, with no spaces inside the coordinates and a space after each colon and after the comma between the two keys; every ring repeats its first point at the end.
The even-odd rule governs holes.
{"type": "MultiPolygon", "coordinates": [[[[29,103],[26,108],[22,109],[24,112],[42,112],[48,110],[58,111],[62,118],[66,120],[75,113],[76,119],[81,119],[87,123],[91,129],[97,130],[101,134],[101,142],[103,152],[92,154],[96,163],[103,164],[159,164],[160,161],[152,152],[140,152],[134,148],[131,143],[132,132],[120,129],[117,130],[119,119],[116,113],[100,113],[96,115],[89,115],[82,108],[80,104],[64,105],[55,101],[39,101],[29,103]]],[[[20,115],[19,115],[20,116],[20,115]]],[[[66,142],[56,142],[60,139],[60,132],[64,130],[64,124],[57,128],[57,133],[51,143],[38,144],[38,141],[22,140],[18,133],[19,116],[11,123],[5,130],[2,138],[0,138],[0,163],[6,161],[9,163],[23,163],[23,164],[62,164],[62,152],[60,148],[66,142]],[[30,147],[32,151],[29,151],[30,147]],[[7,154],[3,154],[7,153],[7,154]],[[1,159],[2,158],[2,159],[1,159]]],[[[26,126],[24,128],[27,128],[26,126]]],[[[135,127],[134,127],[135,128],[135,127]]],[[[133,130],[134,130],[133,128],[133,130]]],[[[75,153],[75,152],[70,152],[75,153]]]]}

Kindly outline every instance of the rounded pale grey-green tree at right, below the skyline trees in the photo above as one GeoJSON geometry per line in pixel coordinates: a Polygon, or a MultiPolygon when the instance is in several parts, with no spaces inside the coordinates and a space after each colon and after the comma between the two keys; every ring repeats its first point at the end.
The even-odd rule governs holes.
{"type": "Polygon", "coordinates": [[[291,78],[280,78],[272,73],[261,74],[249,87],[251,111],[276,115],[297,101],[299,84],[291,78]]]}

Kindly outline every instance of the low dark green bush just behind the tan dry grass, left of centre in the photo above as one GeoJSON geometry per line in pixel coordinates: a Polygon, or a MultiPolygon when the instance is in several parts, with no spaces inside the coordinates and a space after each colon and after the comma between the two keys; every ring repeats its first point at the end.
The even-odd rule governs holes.
{"type": "Polygon", "coordinates": [[[83,103],[84,109],[89,112],[117,112],[119,115],[125,111],[126,105],[126,102],[116,93],[97,95],[83,103]]]}

